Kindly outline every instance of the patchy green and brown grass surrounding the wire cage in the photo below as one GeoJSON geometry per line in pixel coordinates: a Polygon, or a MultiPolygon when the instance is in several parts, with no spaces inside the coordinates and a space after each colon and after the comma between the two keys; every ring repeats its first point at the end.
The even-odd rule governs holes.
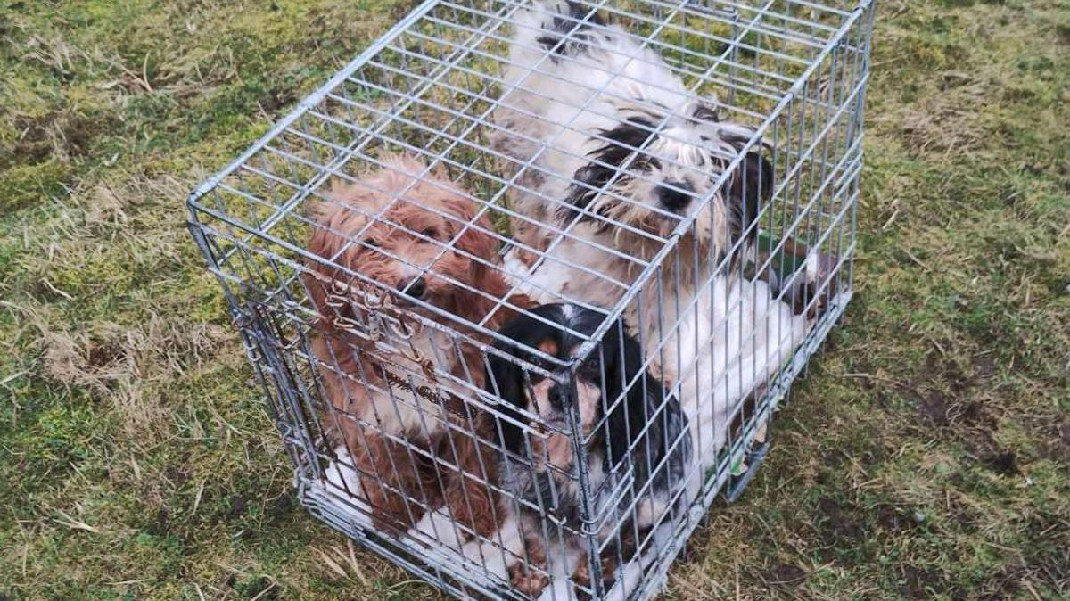
{"type": "MultiPolygon", "coordinates": [[[[309,519],[192,185],[408,9],[0,2],[0,599],[429,599],[309,519]]],[[[1070,2],[878,2],[858,294],[667,599],[1070,595],[1070,2]]]]}

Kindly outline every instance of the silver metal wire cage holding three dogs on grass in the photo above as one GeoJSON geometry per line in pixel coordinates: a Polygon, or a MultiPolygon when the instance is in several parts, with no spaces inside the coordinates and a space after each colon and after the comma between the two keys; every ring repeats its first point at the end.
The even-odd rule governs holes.
{"type": "Polygon", "coordinates": [[[842,314],[868,0],[428,0],[189,197],[302,504],[645,599],[842,314]]]}

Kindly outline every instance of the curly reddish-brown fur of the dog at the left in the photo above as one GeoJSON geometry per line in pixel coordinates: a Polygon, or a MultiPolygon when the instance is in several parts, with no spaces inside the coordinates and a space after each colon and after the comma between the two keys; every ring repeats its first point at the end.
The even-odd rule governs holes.
{"type": "MultiPolygon", "coordinates": [[[[492,298],[505,296],[509,286],[501,272],[489,265],[498,260],[499,243],[487,233],[491,230],[489,220],[485,216],[476,218],[478,204],[465,198],[442,172],[417,179],[415,175],[423,173],[425,166],[414,157],[388,156],[383,163],[386,168],[369,173],[356,184],[336,187],[332,190],[334,202],[317,207],[322,227],[312,234],[309,251],[397,291],[416,277],[413,265],[422,266],[418,277],[425,286],[421,295],[424,302],[465,322],[478,324],[486,319],[485,327],[500,327],[511,314],[502,308],[495,311],[492,298]],[[449,217],[429,211],[428,206],[449,217]],[[369,218],[373,219],[370,226],[369,218]],[[357,235],[367,245],[354,243],[357,235]],[[442,252],[447,244],[449,248],[442,252]],[[447,278],[478,289],[491,298],[447,278]]],[[[332,286],[334,290],[356,290],[355,278],[323,262],[310,261],[308,266],[314,273],[305,276],[305,283],[320,315],[311,352],[320,361],[327,401],[335,410],[335,415],[326,420],[332,429],[328,434],[349,448],[356,471],[369,479],[368,482],[362,479],[361,493],[371,506],[377,525],[403,531],[421,519],[425,507],[445,503],[459,524],[482,535],[492,533],[498,528],[494,518],[498,511],[488,482],[494,481],[494,461],[489,449],[480,449],[484,446],[480,440],[489,440],[492,431],[489,416],[461,401],[468,407],[465,411],[449,414],[443,420],[448,423],[424,426],[423,432],[388,419],[380,421],[374,407],[394,402],[381,392],[389,386],[384,370],[399,364],[393,357],[380,358],[370,342],[338,326],[337,310],[328,303],[332,286]],[[377,416],[372,420],[376,423],[358,419],[369,414],[369,407],[377,416]],[[421,449],[431,457],[418,452],[421,449]]],[[[529,304],[523,296],[509,302],[518,306],[529,304]]],[[[430,312],[423,314],[443,321],[430,312]]],[[[483,341],[463,324],[447,325],[483,341]]],[[[478,348],[461,342],[460,355],[463,360],[447,358],[453,365],[439,366],[440,369],[448,369],[483,388],[484,368],[478,348]]],[[[426,366],[424,371],[429,373],[426,366]]]]}

